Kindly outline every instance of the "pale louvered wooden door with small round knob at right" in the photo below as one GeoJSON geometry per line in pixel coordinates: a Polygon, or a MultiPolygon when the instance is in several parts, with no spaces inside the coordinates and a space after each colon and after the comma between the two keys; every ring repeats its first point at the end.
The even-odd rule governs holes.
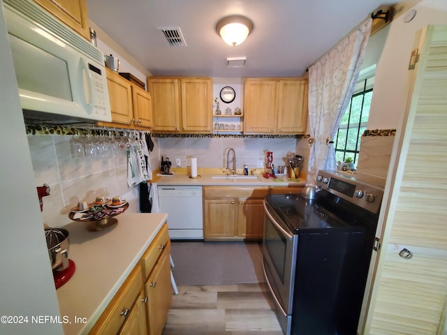
{"type": "Polygon", "coordinates": [[[446,331],[447,26],[427,27],[419,52],[365,334],[446,331]]]}

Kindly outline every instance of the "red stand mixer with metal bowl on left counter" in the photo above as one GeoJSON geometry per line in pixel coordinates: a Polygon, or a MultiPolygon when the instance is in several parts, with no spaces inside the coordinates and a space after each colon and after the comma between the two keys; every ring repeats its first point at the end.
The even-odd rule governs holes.
{"type": "MultiPolygon", "coordinates": [[[[50,195],[50,186],[43,184],[37,187],[37,195],[43,211],[42,198],[50,195]]],[[[64,285],[75,273],[76,265],[73,260],[68,259],[70,243],[68,241],[68,230],[59,228],[45,228],[48,255],[54,276],[56,289],[64,285]]]]}

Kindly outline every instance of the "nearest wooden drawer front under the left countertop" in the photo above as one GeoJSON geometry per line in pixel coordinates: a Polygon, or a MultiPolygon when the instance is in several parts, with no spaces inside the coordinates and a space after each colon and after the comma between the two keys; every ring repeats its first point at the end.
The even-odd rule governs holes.
{"type": "Polygon", "coordinates": [[[117,334],[142,288],[141,266],[137,265],[119,288],[115,297],[91,329],[89,334],[117,334]]]}

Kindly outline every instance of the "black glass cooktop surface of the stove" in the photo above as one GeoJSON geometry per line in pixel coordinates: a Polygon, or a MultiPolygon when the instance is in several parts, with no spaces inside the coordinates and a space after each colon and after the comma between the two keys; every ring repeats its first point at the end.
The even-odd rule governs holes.
{"type": "Polygon", "coordinates": [[[300,194],[271,194],[265,197],[265,202],[294,233],[362,225],[356,215],[326,199],[323,194],[317,200],[302,198],[300,194]]]}

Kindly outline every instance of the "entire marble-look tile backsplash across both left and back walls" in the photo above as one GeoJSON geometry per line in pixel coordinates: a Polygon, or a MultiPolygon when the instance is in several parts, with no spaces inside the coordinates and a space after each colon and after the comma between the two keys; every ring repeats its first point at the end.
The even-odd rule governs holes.
{"type": "MultiPolygon", "coordinates": [[[[29,149],[36,186],[48,184],[51,194],[43,198],[43,223],[50,227],[66,225],[68,213],[80,201],[93,201],[96,196],[124,196],[128,211],[138,212],[138,187],[127,184],[126,151],[116,156],[73,158],[70,135],[29,135],[29,149]]],[[[235,149],[237,168],[263,168],[265,151],[273,152],[273,163],[284,165],[288,151],[295,152],[295,138],[245,137],[152,137],[154,150],[150,154],[152,170],[159,168],[161,156],[180,158],[181,166],[190,164],[196,156],[199,168],[225,168],[226,151],[235,149]]],[[[297,153],[298,154],[298,153],[297,153]]]]}

